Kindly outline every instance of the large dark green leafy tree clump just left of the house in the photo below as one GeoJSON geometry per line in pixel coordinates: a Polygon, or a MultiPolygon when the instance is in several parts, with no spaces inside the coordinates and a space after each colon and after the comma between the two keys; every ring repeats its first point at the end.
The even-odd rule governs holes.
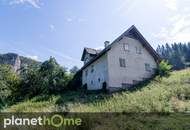
{"type": "Polygon", "coordinates": [[[28,98],[62,93],[72,79],[53,57],[43,62],[39,68],[26,68],[22,71],[23,84],[18,91],[28,98]]]}

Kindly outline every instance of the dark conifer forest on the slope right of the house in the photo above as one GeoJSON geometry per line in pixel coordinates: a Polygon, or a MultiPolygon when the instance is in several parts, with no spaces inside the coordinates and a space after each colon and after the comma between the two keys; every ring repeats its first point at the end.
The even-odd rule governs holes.
{"type": "Polygon", "coordinates": [[[158,54],[173,67],[173,70],[180,70],[190,67],[190,42],[188,44],[174,43],[158,46],[158,54]]]}

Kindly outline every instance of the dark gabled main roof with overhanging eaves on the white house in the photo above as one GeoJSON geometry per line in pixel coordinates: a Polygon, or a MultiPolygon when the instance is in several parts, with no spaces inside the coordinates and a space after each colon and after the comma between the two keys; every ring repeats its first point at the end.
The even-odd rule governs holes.
{"type": "MultiPolygon", "coordinates": [[[[140,40],[143,46],[148,50],[148,52],[154,57],[155,61],[159,63],[161,61],[160,56],[156,53],[156,51],[152,48],[152,46],[148,43],[148,41],[143,37],[143,35],[138,31],[138,29],[132,25],[127,31],[125,31],[122,35],[120,35],[116,40],[114,40],[109,46],[107,46],[105,49],[103,49],[100,53],[98,53],[92,60],[90,60],[87,64],[85,64],[81,69],[85,69],[87,66],[92,64],[94,61],[99,59],[103,54],[105,54],[107,51],[111,49],[111,47],[116,44],[118,41],[120,41],[123,36],[127,37],[135,37],[136,39],[140,40]]],[[[84,49],[85,51],[86,49],[84,49]]],[[[83,55],[84,55],[83,51],[83,55]]]]}

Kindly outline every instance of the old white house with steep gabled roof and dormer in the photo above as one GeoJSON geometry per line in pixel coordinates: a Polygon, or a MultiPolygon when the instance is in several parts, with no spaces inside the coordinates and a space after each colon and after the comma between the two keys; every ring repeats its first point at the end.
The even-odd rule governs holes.
{"type": "Polygon", "coordinates": [[[133,25],[115,41],[105,42],[105,48],[84,48],[82,84],[88,90],[110,91],[127,89],[150,78],[157,68],[160,57],[133,25]]]}

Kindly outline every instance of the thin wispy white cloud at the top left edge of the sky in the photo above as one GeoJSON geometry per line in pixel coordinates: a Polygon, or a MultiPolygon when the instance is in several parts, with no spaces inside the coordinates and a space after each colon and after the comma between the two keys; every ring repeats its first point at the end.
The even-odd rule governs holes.
{"type": "Polygon", "coordinates": [[[35,8],[40,8],[40,2],[41,0],[11,0],[9,4],[30,4],[35,8]]]}

